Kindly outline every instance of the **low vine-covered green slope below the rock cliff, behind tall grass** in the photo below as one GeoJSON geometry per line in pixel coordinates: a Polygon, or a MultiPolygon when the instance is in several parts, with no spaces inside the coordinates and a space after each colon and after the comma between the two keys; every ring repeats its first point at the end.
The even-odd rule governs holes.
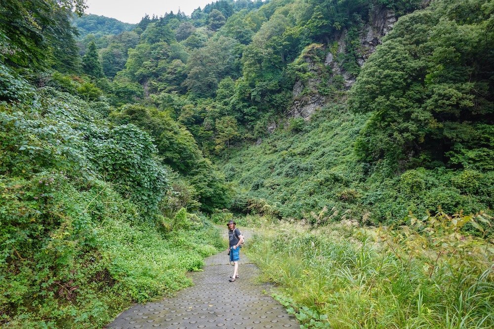
{"type": "Polygon", "coordinates": [[[396,174],[387,162],[370,171],[353,149],[365,120],[332,105],[300,120],[300,132],[280,128],[258,145],[230,147],[221,168],[236,186],[234,204],[243,204],[235,211],[248,213],[247,200],[264,199],[280,217],[311,222],[311,211],[334,207],[338,214],[330,221],[350,211],[346,218],[390,224],[410,211],[422,216],[438,207],[448,214],[493,209],[492,171],[442,167],[396,174]]]}

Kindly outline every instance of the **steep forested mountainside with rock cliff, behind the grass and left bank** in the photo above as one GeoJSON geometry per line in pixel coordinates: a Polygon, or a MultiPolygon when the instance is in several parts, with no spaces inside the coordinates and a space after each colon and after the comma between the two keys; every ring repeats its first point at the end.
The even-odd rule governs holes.
{"type": "Polygon", "coordinates": [[[232,209],[393,222],[492,209],[491,15],[485,0],[222,0],[145,17],[100,54],[219,159],[232,209]]]}

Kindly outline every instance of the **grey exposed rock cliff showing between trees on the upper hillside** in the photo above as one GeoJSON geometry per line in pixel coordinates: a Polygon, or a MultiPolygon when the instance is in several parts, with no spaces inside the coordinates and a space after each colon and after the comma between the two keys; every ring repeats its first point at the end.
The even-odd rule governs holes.
{"type": "MultiPolygon", "coordinates": [[[[391,31],[396,22],[395,13],[384,7],[376,7],[371,12],[369,23],[367,23],[360,34],[360,57],[357,58],[359,66],[364,65],[369,56],[375,51],[377,45],[381,43],[382,37],[391,31]]],[[[343,78],[343,87],[349,89],[355,82],[355,76],[346,72],[341,63],[336,59],[338,54],[343,54],[346,51],[345,40],[348,32],[342,31],[339,36],[335,36],[335,41],[338,44],[335,54],[328,51],[324,60],[324,65],[331,68],[332,76],[339,75],[343,78]]],[[[318,85],[322,82],[320,78],[321,68],[314,63],[310,56],[304,58],[308,63],[309,71],[314,73],[315,77],[302,82],[297,80],[293,86],[293,104],[288,110],[288,117],[303,117],[309,119],[310,116],[320,109],[327,101],[327,97],[321,95],[318,91],[318,85]]]]}

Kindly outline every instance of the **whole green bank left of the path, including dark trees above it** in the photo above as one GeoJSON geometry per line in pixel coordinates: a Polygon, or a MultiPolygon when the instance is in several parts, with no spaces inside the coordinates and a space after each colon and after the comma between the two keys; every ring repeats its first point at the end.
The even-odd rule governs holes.
{"type": "MultiPolygon", "coordinates": [[[[228,189],[184,129],[164,123],[157,148],[131,115],[109,116],[111,96],[90,76],[51,71],[70,61],[49,42],[70,9],[40,4],[59,5],[1,8],[0,325],[102,328],[133,302],[192,284],[186,272],[223,248],[197,209],[228,189]],[[187,177],[173,166],[182,154],[187,177]]],[[[82,63],[96,72],[97,57],[82,63]]]]}

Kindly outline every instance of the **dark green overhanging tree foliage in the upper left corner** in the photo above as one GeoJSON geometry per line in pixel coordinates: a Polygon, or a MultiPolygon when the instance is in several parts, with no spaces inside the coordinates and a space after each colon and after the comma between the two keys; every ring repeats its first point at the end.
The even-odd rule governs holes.
{"type": "Polygon", "coordinates": [[[77,48],[70,25],[72,9],[81,15],[82,0],[2,0],[0,58],[16,67],[78,69],[77,48]]]}

